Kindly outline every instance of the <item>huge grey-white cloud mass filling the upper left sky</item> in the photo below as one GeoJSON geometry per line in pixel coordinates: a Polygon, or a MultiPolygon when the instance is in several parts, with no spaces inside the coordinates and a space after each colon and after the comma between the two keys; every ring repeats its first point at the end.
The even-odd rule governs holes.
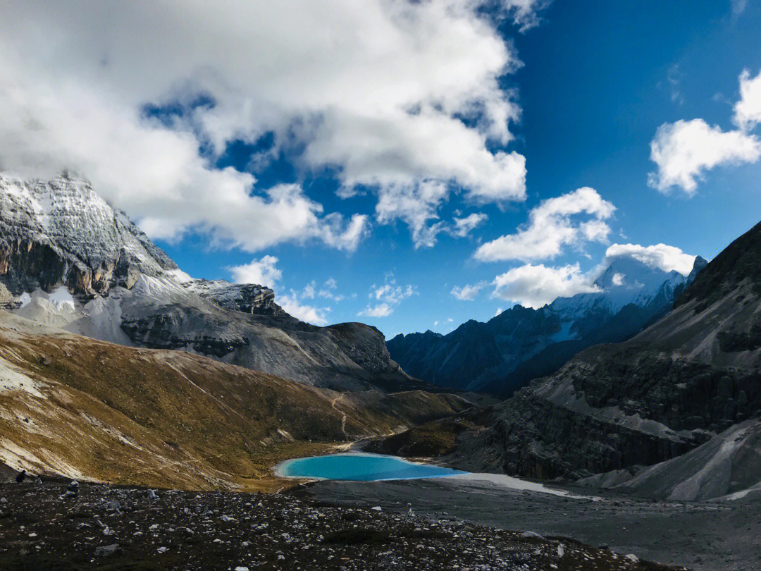
{"type": "MultiPolygon", "coordinates": [[[[546,2],[498,4],[526,29],[546,2]]],[[[268,135],[273,148],[252,164],[282,152],[304,171],[335,169],[345,195],[370,187],[380,221],[403,219],[430,244],[428,222],[453,190],[472,203],[525,196],[524,157],[492,150],[513,138],[521,110],[500,81],[521,64],[485,5],[494,2],[8,5],[0,167],[72,168],[152,238],[357,247],[367,216],[342,219],[298,186],[261,188],[215,167],[230,142],[268,135]],[[151,116],[147,104],[181,113],[151,116]],[[419,209],[389,206],[397,196],[419,209]]]]}

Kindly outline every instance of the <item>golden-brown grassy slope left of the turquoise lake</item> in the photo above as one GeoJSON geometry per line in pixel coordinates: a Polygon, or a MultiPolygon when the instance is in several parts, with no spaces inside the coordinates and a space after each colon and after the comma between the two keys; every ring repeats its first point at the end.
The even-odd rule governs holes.
{"type": "Polygon", "coordinates": [[[284,458],[465,406],[419,391],[341,397],[201,356],[102,343],[0,313],[0,460],[30,471],[271,490],[284,485],[271,472],[284,458]],[[19,375],[43,396],[19,388],[19,375]]]}

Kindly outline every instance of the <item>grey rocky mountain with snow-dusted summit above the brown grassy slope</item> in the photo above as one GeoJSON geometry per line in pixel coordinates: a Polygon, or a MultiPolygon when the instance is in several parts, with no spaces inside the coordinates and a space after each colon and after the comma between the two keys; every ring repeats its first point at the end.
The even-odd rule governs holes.
{"type": "Polygon", "coordinates": [[[374,327],[315,327],[261,285],[190,279],[68,174],[0,175],[0,307],[99,340],[182,349],[322,387],[422,386],[374,327]]]}

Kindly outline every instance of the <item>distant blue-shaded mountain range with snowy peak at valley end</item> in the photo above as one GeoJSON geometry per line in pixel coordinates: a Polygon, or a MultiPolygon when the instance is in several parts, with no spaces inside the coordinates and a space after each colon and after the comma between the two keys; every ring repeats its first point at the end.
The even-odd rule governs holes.
{"type": "Polygon", "coordinates": [[[447,335],[398,335],[387,347],[406,372],[424,381],[507,397],[556,372],[581,349],[638,333],[668,311],[705,263],[697,257],[693,273],[683,276],[618,257],[594,282],[597,292],[557,298],[539,309],[516,305],[447,335]]]}

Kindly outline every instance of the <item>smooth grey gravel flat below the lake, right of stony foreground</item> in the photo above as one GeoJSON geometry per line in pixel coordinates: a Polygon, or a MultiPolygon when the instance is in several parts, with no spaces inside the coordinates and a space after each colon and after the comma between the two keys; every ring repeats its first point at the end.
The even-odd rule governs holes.
{"type": "MultiPolygon", "coordinates": [[[[571,490],[579,494],[588,489],[571,490]]],[[[413,509],[493,528],[565,536],[617,553],[696,571],[761,569],[761,494],[734,502],[651,502],[609,493],[600,501],[436,478],[396,482],[317,482],[299,497],[347,506],[413,509]]]]}

